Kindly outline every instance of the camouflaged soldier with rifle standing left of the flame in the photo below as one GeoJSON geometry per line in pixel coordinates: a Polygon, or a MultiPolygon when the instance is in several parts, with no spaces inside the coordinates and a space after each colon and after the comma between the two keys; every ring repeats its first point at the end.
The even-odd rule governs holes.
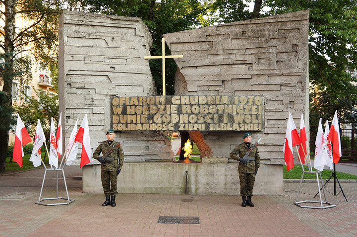
{"type": "Polygon", "coordinates": [[[102,206],[104,207],[104,206],[111,205],[112,207],[115,207],[117,206],[115,202],[115,197],[118,194],[117,192],[118,174],[120,173],[121,166],[123,165],[124,153],[120,143],[114,141],[115,138],[114,130],[110,129],[106,134],[108,140],[99,144],[99,146],[93,153],[93,158],[97,159],[99,162],[102,163],[101,178],[102,178],[104,195],[106,196],[106,200],[102,204],[102,206]],[[110,152],[110,150],[112,150],[112,152],[110,152]],[[99,157],[101,153],[106,158],[99,157]],[[112,196],[111,199],[110,196],[112,196]]]}

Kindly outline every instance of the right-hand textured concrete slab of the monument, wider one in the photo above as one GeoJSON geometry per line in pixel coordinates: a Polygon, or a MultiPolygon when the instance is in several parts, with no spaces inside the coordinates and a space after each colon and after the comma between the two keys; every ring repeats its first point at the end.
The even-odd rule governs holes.
{"type": "MultiPolygon", "coordinates": [[[[289,112],[308,127],[308,17],[297,11],[165,34],[178,65],[178,95],[256,95],[265,98],[262,162],[283,164],[289,112]]],[[[203,133],[214,156],[228,157],[241,133],[203,133]]]]}

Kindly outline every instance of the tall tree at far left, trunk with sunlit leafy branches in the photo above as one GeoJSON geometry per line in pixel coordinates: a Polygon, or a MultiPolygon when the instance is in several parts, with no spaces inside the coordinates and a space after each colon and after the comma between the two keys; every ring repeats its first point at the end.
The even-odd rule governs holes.
{"type": "Polygon", "coordinates": [[[3,50],[1,127],[0,127],[0,172],[5,171],[8,136],[11,124],[12,80],[17,72],[14,58],[28,51],[36,59],[51,63],[57,56],[60,0],[0,0],[0,48],[3,50]],[[24,26],[15,25],[23,19],[24,26]]]}

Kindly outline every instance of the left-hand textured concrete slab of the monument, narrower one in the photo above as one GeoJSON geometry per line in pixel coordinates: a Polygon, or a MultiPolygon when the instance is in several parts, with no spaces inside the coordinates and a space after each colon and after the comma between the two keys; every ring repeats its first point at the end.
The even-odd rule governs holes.
{"type": "MultiPolygon", "coordinates": [[[[91,146],[106,140],[110,97],[156,95],[149,62],[151,35],[139,18],[64,11],[59,19],[59,100],[63,132],[88,115],[91,146]]],[[[116,133],[125,159],[172,159],[161,133],[116,133]]]]}

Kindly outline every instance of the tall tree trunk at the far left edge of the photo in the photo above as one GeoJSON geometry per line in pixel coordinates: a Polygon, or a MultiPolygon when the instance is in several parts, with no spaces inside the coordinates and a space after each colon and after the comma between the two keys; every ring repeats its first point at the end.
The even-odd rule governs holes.
{"type": "MultiPolygon", "coordinates": [[[[14,52],[14,34],[15,34],[15,17],[14,17],[14,0],[4,1],[5,5],[5,41],[4,41],[4,84],[2,92],[5,93],[6,101],[3,104],[3,109],[11,113],[12,108],[12,79],[13,79],[13,52],[14,52]]],[[[9,129],[11,125],[11,117],[4,116],[1,118],[0,130],[0,172],[5,171],[6,153],[8,148],[9,129]]]]}

